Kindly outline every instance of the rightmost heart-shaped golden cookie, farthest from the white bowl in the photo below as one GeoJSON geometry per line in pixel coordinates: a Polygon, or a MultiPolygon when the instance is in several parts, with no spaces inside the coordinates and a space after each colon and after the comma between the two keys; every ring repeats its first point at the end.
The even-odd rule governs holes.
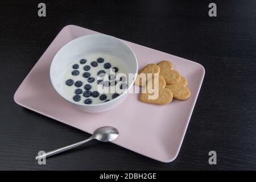
{"type": "Polygon", "coordinates": [[[187,100],[191,96],[191,91],[186,87],[187,85],[188,80],[181,76],[179,82],[176,82],[176,84],[166,85],[166,88],[172,91],[174,98],[177,100],[187,100]]]}

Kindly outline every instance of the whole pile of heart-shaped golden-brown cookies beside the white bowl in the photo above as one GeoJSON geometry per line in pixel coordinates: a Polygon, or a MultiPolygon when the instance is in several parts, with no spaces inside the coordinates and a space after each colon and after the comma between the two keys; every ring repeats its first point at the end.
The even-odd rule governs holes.
{"type": "Polygon", "coordinates": [[[139,101],[149,104],[165,105],[172,101],[187,100],[191,91],[187,88],[188,80],[174,70],[171,61],[161,61],[158,64],[148,64],[144,67],[135,80],[135,85],[144,86],[143,93],[139,95],[139,101]],[[150,75],[149,75],[150,74],[150,75]],[[146,76],[143,79],[143,75],[146,76]],[[151,77],[152,76],[152,77],[151,77]],[[155,81],[158,81],[155,83],[155,81]],[[148,88],[154,89],[157,85],[158,97],[152,97],[155,93],[149,92],[148,88]]]}

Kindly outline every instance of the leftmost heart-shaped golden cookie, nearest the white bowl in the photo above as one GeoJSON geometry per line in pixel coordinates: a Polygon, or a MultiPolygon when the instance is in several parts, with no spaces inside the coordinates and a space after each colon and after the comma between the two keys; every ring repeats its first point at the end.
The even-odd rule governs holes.
{"type": "Polygon", "coordinates": [[[160,73],[160,68],[157,64],[148,64],[138,74],[134,84],[139,86],[145,86],[147,82],[147,74],[151,73],[152,77],[154,74],[160,73]]]}

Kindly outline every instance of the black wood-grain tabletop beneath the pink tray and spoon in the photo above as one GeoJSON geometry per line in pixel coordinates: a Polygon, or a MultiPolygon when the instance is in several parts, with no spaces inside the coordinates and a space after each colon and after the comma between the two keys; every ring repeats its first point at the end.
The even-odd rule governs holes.
{"type": "Polygon", "coordinates": [[[0,1],[0,169],[256,169],[256,1],[0,1]],[[104,3],[103,3],[104,2],[104,3]],[[217,17],[208,5],[217,5],[217,17]],[[13,101],[67,24],[196,61],[204,82],[176,160],[92,142],[39,166],[39,150],[89,137],[13,101]],[[217,152],[210,166],[208,152],[217,152]]]}

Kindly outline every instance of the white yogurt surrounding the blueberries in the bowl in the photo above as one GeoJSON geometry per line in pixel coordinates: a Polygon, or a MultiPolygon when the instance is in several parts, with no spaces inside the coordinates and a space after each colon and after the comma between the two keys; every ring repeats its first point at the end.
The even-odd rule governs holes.
{"type": "Polygon", "coordinates": [[[86,99],[90,99],[92,100],[92,104],[100,104],[102,102],[105,102],[106,100],[112,100],[112,96],[114,93],[118,93],[118,94],[122,94],[122,92],[124,92],[126,89],[120,89],[121,84],[123,84],[123,86],[127,85],[127,78],[128,78],[128,74],[125,68],[125,65],[123,65],[123,63],[118,60],[116,57],[110,56],[110,55],[105,55],[105,54],[101,54],[101,53],[97,53],[97,54],[92,54],[92,55],[86,55],[84,57],[81,57],[81,59],[79,60],[74,60],[73,64],[70,65],[70,68],[67,70],[67,72],[64,75],[64,92],[65,92],[65,98],[71,102],[75,102],[75,103],[80,103],[80,104],[84,104],[84,101],[86,99]],[[96,61],[97,59],[102,57],[104,59],[103,63],[98,63],[97,67],[93,67],[91,65],[92,61],[96,61]],[[81,59],[85,59],[86,63],[85,64],[80,64],[80,60],[81,59]],[[105,63],[110,63],[111,64],[111,68],[110,69],[105,69],[104,68],[104,64],[105,63]],[[79,68],[78,69],[73,69],[72,66],[74,64],[78,64],[79,68]],[[84,71],[84,67],[85,65],[89,65],[90,66],[90,70],[89,71],[84,71]],[[117,67],[118,68],[118,72],[114,73],[113,72],[113,67],[117,67]],[[72,71],[77,70],[79,71],[79,75],[77,76],[73,76],[72,75],[72,71]],[[101,70],[104,70],[106,72],[106,75],[104,78],[100,78],[98,77],[97,73],[101,70]],[[88,82],[88,78],[83,77],[83,73],[84,72],[89,72],[90,73],[90,77],[93,77],[95,80],[90,83],[88,82]],[[111,74],[115,74],[115,80],[109,80],[108,77],[111,74]],[[120,77],[125,77],[125,79],[123,79],[122,81],[120,81],[120,77]],[[97,84],[97,80],[98,78],[104,80],[104,81],[117,81],[116,85],[110,85],[109,87],[107,86],[102,86],[102,85],[98,85],[97,84]],[[68,86],[65,81],[72,79],[74,81],[74,84],[72,86],[68,86]],[[125,80],[125,81],[124,81],[125,80]],[[82,93],[79,94],[80,96],[80,101],[74,101],[73,97],[76,95],[75,94],[75,90],[78,89],[78,87],[75,86],[75,82],[76,81],[81,81],[82,82],[82,86],[79,87],[79,89],[82,89],[82,93]],[[107,96],[107,98],[105,100],[100,100],[100,96],[98,97],[84,97],[83,93],[85,92],[85,88],[84,86],[86,84],[90,84],[92,86],[92,88],[90,89],[91,92],[93,91],[97,91],[100,93],[100,96],[102,94],[105,94],[107,96]],[[105,90],[104,90],[105,89],[105,90]]]}

